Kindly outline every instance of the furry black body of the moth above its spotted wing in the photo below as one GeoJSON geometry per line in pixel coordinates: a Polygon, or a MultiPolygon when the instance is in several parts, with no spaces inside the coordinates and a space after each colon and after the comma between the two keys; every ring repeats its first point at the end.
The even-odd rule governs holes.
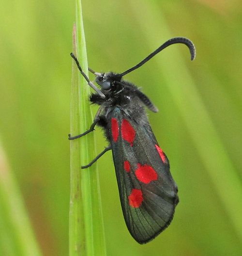
{"type": "MultiPolygon", "coordinates": [[[[104,128],[108,141],[110,142],[110,128],[107,125],[110,123],[112,112],[115,108],[119,108],[124,116],[135,120],[138,125],[146,127],[149,133],[153,135],[142,101],[143,98],[148,99],[148,97],[141,93],[131,82],[123,81],[120,74],[113,72],[109,72],[106,75],[101,74],[96,77],[96,82],[102,84],[104,77],[105,81],[110,82],[109,90],[101,90],[105,98],[97,93],[91,94],[90,102],[101,106],[102,111],[98,117],[97,125],[104,128]]],[[[150,100],[148,102],[148,106],[155,108],[150,100]]]]}

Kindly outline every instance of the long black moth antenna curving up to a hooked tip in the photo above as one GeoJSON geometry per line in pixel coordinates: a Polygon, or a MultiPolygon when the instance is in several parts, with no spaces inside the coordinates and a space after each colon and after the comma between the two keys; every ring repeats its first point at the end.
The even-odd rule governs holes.
{"type": "Polygon", "coordinates": [[[152,57],[154,57],[154,55],[156,55],[158,52],[162,51],[166,47],[168,47],[170,45],[173,45],[173,44],[184,44],[184,45],[186,45],[190,50],[191,61],[193,61],[195,59],[196,49],[195,49],[195,46],[194,46],[193,42],[191,40],[185,38],[185,37],[174,37],[174,38],[171,38],[170,40],[166,41],[163,45],[161,45],[159,48],[157,48],[155,51],[153,51],[143,61],[141,61],[140,63],[136,64],[135,66],[129,68],[128,70],[124,71],[120,75],[124,76],[124,75],[130,73],[131,71],[135,70],[136,68],[142,66],[143,64],[148,62],[152,57]]]}

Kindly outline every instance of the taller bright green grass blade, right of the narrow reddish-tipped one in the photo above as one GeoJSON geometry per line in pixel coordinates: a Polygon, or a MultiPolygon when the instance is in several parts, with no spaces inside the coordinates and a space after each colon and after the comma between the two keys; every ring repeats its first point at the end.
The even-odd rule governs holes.
{"type": "MultiPolygon", "coordinates": [[[[80,0],[76,0],[76,56],[83,71],[88,76],[87,52],[80,0]]],[[[77,70],[77,67],[75,67],[75,69],[77,70]]],[[[78,104],[75,104],[75,107],[78,113],[75,116],[73,115],[73,118],[77,118],[77,120],[75,121],[77,128],[76,134],[80,134],[90,128],[93,118],[91,114],[90,104],[87,100],[90,94],[90,88],[89,86],[87,86],[87,81],[82,77],[79,72],[77,78],[78,90],[76,90],[76,93],[78,91],[78,99],[76,98],[76,101],[78,101],[78,104]]],[[[73,103],[72,105],[74,106],[73,103]]],[[[73,135],[75,134],[73,133],[73,135]]],[[[81,223],[76,223],[76,228],[81,228],[80,232],[82,232],[81,236],[83,236],[81,238],[81,242],[78,242],[77,244],[81,246],[81,249],[84,248],[82,250],[82,255],[105,256],[106,247],[97,164],[93,164],[88,169],[80,169],[81,165],[86,165],[96,156],[94,134],[89,133],[86,136],[77,140],[77,147],[78,151],[80,152],[80,183],[78,184],[78,186],[76,184],[76,189],[78,188],[77,192],[80,196],[80,200],[78,201],[78,203],[82,205],[79,208],[79,213],[82,214],[82,216],[79,219],[81,223]]],[[[77,161],[78,159],[76,155],[76,163],[77,161]]],[[[77,175],[73,178],[78,179],[77,175]]],[[[74,180],[73,182],[77,182],[77,180],[74,180]]]]}

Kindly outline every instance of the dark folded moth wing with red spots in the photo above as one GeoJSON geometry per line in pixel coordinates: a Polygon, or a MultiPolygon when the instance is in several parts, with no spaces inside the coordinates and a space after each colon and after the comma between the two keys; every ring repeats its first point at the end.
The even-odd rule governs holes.
{"type": "Polygon", "coordinates": [[[133,238],[146,243],[170,224],[177,186],[148,121],[141,126],[116,107],[109,124],[124,219],[133,238]]]}

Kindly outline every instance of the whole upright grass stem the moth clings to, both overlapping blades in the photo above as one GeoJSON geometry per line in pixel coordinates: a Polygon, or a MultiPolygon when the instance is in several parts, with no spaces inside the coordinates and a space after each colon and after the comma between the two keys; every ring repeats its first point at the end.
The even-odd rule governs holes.
{"type": "MultiPolygon", "coordinates": [[[[74,33],[75,34],[75,33],[74,33]]],[[[76,37],[74,53],[88,75],[85,35],[81,1],[76,1],[76,37]]],[[[93,121],[88,96],[87,81],[73,68],[71,134],[83,133],[93,121]]],[[[97,164],[81,170],[96,156],[94,134],[71,142],[71,204],[70,204],[70,256],[105,256],[105,237],[102,219],[97,164]],[[80,156],[80,157],[79,157],[80,156]]]]}

